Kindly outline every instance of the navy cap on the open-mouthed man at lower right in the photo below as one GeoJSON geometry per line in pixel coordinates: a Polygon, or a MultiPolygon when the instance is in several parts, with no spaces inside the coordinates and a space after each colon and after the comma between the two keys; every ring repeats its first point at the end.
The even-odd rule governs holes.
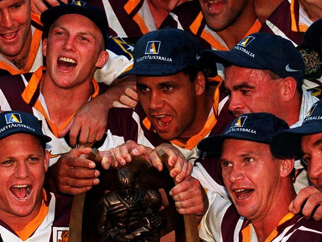
{"type": "Polygon", "coordinates": [[[270,144],[274,133],[289,128],[288,124],[268,113],[250,113],[236,118],[222,134],[209,136],[198,144],[198,149],[221,153],[225,139],[241,139],[270,144]]]}

